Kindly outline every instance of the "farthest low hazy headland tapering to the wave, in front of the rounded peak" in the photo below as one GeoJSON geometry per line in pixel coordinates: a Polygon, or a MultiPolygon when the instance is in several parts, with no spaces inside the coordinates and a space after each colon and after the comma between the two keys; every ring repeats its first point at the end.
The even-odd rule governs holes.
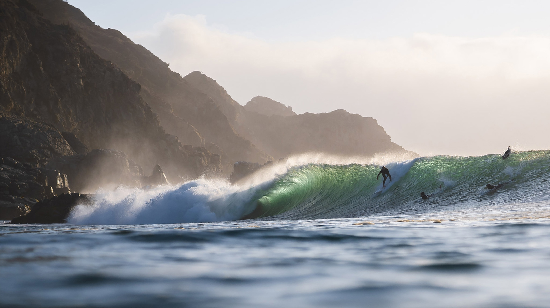
{"type": "Polygon", "coordinates": [[[246,119],[255,133],[254,142],[276,158],[306,152],[361,156],[392,152],[417,156],[393,143],[372,117],[343,109],[293,116],[256,114],[246,119]]]}

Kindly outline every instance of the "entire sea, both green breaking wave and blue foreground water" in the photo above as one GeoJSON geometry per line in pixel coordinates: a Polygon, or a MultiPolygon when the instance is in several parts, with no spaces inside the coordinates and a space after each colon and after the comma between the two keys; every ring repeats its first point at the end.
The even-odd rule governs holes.
{"type": "Polygon", "coordinates": [[[310,154],[100,190],[68,224],[0,224],[0,305],[548,307],[549,177],[550,150],[310,154]]]}

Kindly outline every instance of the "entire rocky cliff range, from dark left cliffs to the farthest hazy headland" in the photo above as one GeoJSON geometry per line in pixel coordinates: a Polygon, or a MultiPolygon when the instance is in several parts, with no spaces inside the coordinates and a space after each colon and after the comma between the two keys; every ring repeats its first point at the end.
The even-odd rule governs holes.
{"type": "Polygon", "coordinates": [[[304,152],[415,155],[371,117],[296,115],[260,96],[240,105],[62,0],[1,3],[2,219],[100,187],[228,177],[234,165],[235,180],[304,152]]]}

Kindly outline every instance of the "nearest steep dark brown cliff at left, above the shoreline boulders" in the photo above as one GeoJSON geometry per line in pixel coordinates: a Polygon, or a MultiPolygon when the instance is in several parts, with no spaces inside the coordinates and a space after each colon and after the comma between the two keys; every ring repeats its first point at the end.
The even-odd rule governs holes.
{"type": "Polygon", "coordinates": [[[72,132],[90,149],[121,150],[145,170],[161,164],[173,179],[219,171],[219,156],[166,134],[140,85],[72,26],[52,24],[25,0],[2,0],[1,13],[2,111],[72,132]]]}

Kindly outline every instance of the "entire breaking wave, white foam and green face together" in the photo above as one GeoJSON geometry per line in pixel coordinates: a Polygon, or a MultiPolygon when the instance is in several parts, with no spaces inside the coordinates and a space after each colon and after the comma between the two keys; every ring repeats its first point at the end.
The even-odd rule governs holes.
{"type": "Polygon", "coordinates": [[[361,161],[295,156],[249,180],[190,181],[144,191],[98,191],[93,206],[77,206],[70,223],[121,225],[228,221],[331,219],[408,214],[441,208],[550,200],[550,150],[500,155],[430,156],[406,161],[361,161]],[[313,161],[313,163],[311,163],[313,161]],[[392,174],[382,191],[384,164],[392,174]],[[498,191],[487,183],[503,183],[498,191]],[[378,192],[380,191],[380,192],[378,192]],[[423,201],[420,192],[433,194],[423,201]]]}

